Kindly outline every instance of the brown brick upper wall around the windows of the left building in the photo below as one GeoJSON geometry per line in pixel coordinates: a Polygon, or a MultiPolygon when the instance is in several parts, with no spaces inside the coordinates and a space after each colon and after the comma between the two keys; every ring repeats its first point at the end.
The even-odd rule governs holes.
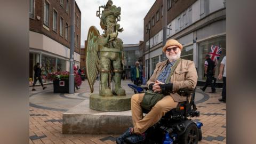
{"type": "MultiPolygon", "coordinates": [[[[70,26],[70,7],[71,2],[69,1],[69,12],[66,13],[65,6],[66,6],[66,0],[63,0],[63,7],[60,5],[60,1],[56,0],[48,0],[50,3],[50,26],[49,31],[43,28],[43,21],[44,21],[44,1],[45,0],[35,0],[35,19],[29,19],[29,29],[31,31],[35,31],[37,33],[44,34],[58,43],[70,47],[70,27],[68,28],[68,41],[65,39],[65,26],[66,22],[70,26]],[[57,33],[52,30],[52,23],[53,23],[53,8],[58,12],[58,18],[57,18],[57,33]],[[37,16],[40,17],[40,19],[37,19],[37,16]],[[63,18],[63,37],[60,36],[60,17],[63,18]]],[[[75,52],[80,53],[81,49],[81,12],[78,10],[78,6],[76,4],[75,12],[76,15],[79,16],[79,25],[76,27],[76,15],[75,15],[75,34],[78,34],[78,47],[75,46],[75,52]]]]}

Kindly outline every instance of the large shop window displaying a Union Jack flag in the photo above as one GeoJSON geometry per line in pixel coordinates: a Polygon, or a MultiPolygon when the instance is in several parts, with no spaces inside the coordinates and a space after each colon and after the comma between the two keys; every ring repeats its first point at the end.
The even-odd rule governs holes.
{"type": "Polygon", "coordinates": [[[223,57],[226,55],[226,36],[217,37],[217,38],[209,39],[207,41],[198,43],[198,80],[199,81],[205,81],[206,79],[204,77],[205,55],[209,54],[212,45],[219,46],[222,48],[222,52],[218,60],[218,64],[215,68],[215,77],[218,77],[220,62],[223,59],[223,57]]]}

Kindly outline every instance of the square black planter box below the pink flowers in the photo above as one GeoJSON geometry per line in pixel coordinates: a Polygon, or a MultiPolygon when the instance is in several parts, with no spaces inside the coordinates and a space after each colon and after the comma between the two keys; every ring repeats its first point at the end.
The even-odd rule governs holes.
{"type": "MultiPolygon", "coordinates": [[[[74,87],[75,91],[75,87],[74,87]]],[[[69,80],[68,79],[55,79],[53,81],[53,92],[54,93],[69,93],[69,80]]]]}

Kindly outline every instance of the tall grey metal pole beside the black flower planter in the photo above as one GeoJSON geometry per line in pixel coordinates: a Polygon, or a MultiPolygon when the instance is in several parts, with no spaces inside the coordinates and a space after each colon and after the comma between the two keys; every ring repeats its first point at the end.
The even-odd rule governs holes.
{"type": "Polygon", "coordinates": [[[71,21],[70,21],[70,61],[69,61],[69,93],[73,94],[75,89],[74,79],[74,44],[75,44],[75,0],[71,0],[71,21]]]}

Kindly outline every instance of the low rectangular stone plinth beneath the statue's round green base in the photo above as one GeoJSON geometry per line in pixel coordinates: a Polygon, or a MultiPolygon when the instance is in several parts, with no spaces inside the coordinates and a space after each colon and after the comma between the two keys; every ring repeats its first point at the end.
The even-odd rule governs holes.
{"type": "Polygon", "coordinates": [[[62,119],[63,134],[122,134],[132,126],[131,110],[92,110],[88,99],[63,113],[62,119]]]}

